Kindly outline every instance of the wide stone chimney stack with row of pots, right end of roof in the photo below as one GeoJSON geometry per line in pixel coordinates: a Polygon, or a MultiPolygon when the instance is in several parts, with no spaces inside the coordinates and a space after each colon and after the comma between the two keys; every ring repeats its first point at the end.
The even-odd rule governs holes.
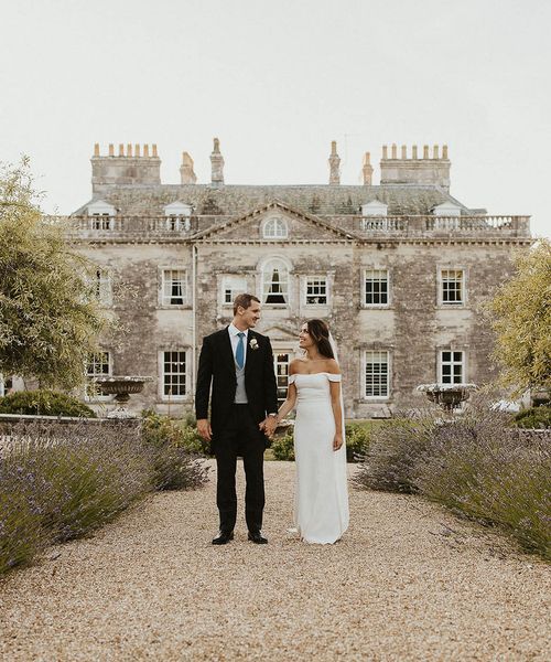
{"type": "Polygon", "coordinates": [[[429,146],[423,146],[423,158],[418,157],[418,148],[414,145],[411,149],[411,157],[408,158],[408,148],[401,146],[400,158],[398,158],[398,148],[391,146],[391,156],[388,158],[388,148],[382,146],[382,158],[380,161],[380,183],[381,184],[433,184],[450,191],[450,168],[447,159],[447,146],[442,147],[442,156],[437,145],[433,147],[432,158],[429,154],[429,146]]]}

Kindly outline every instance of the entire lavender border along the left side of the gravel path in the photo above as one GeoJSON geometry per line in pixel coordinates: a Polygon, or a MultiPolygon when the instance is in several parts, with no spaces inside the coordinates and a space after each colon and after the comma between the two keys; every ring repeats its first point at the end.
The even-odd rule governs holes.
{"type": "Polygon", "coordinates": [[[151,446],[125,423],[19,424],[10,438],[0,449],[0,574],[166,489],[160,466],[177,476],[172,488],[199,487],[206,478],[188,451],[151,446]]]}

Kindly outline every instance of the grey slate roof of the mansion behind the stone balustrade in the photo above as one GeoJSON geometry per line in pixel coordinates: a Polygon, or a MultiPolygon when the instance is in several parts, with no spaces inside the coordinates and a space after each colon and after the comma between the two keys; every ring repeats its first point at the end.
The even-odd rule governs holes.
{"type": "MultiPolygon", "coordinates": [[[[93,200],[111,203],[121,215],[163,215],[166,204],[181,201],[193,205],[194,214],[241,216],[273,201],[316,216],[358,214],[363,204],[378,200],[388,214],[425,215],[443,202],[469,210],[435,185],[381,184],[347,185],[222,185],[209,184],[117,184],[97,186],[93,200]]],[[[87,202],[74,215],[85,214],[87,202]]]]}

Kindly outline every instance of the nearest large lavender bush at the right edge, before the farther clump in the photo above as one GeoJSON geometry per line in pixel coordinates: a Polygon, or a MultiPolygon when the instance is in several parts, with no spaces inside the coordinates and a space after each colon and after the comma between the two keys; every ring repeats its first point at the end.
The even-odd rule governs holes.
{"type": "Polygon", "coordinates": [[[520,431],[474,409],[441,426],[414,469],[419,491],[457,513],[506,528],[551,560],[551,434],[520,431]]]}

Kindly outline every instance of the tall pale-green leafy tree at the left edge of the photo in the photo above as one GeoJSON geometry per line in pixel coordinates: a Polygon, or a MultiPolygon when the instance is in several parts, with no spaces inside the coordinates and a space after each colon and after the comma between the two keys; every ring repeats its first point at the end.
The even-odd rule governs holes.
{"type": "Polygon", "coordinates": [[[39,206],[29,160],[0,167],[0,373],[71,388],[107,328],[95,267],[39,206]]]}

